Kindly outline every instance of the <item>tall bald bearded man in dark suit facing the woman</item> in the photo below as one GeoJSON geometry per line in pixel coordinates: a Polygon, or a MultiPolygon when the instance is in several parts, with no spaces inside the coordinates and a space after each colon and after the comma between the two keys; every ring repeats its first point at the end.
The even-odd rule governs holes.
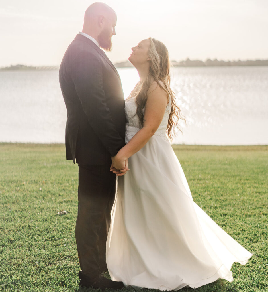
{"type": "MultiPolygon", "coordinates": [[[[111,51],[117,16],[95,2],[85,11],[82,32],[67,48],[59,83],[67,108],[67,160],[78,163],[76,245],[80,286],[120,289],[122,282],[102,276],[107,271],[105,249],[115,198],[116,175],[111,157],[125,145],[125,100],[118,72],[103,48],[111,51]]],[[[127,171],[127,161],[121,166],[127,171]]]]}

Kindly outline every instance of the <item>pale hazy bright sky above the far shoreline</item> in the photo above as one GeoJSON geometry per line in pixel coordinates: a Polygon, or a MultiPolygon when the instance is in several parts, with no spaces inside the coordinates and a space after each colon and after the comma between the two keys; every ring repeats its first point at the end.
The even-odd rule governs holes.
{"type": "MultiPolygon", "coordinates": [[[[59,65],[82,30],[85,0],[1,0],[0,67],[59,65]]],[[[171,60],[268,59],[267,0],[106,0],[117,13],[112,62],[149,36],[171,60]]]]}

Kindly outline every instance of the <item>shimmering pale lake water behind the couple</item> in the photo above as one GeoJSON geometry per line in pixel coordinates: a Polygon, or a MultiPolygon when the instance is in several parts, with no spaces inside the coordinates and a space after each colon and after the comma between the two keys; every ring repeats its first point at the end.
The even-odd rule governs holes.
{"type": "MultiPolygon", "coordinates": [[[[139,76],[118,72],[127,97],[139,76]]],[[[171,88],[187,122],[174,144],[268,144],[268,66],[174,67],[171,88]]],[[[58,71],[0,71],[0,100],[0,142],[64,143],[58,71]]]]}

